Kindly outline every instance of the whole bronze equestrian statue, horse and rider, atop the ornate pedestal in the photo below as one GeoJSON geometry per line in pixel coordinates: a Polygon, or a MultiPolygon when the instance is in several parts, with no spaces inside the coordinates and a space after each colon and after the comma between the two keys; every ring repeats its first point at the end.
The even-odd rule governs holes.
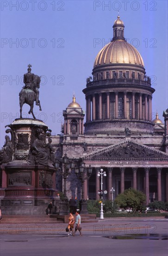
{"type": "Polygon", "coordinates": [[[31,73],[31,65],[28,65],[27,73],[24,74],[24,84],[25,86],[19,93],[19,105],[20,105],[20,118],[22,118],[22,107],[23,104],[28,104],[31,108],[29,114],[32,114],[33,118],[36,119],[33,113],[34,101],[36,105],[39,106],[40,111],[41,105],[39,101],[39,91],[40,88],[40,76],[31,73]]]}

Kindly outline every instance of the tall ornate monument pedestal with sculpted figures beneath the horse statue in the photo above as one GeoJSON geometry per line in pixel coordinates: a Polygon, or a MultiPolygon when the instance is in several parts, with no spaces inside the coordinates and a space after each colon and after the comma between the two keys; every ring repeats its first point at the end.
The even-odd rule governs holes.
{"type": "Polygon", "coordinates": [[[6,215],[46,214],[50,201],[55,207],[56,173],[48,144],[40,137],[37,139],[37,134],[43,134],[46,139],[50,135],[48,127],[43,121],[24,118],[16,119],[9,127],[6,132],[12,135],[13,161],[0,166],[5,194],[1,210],[6,215]],[[38,140],[45,147],[37,147],[36,152],[33,143],[38,140]]]}

